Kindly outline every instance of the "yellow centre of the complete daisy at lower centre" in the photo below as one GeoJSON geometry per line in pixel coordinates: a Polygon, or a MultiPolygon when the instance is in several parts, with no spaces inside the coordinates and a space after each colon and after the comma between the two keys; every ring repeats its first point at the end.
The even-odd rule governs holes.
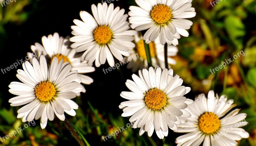
{"type": "Polygon", "coordinates": [[[152,110],[161,110],[167,103],[166,94],[157,88],[149,90],[145,95],[145,103],[152,110]]]}

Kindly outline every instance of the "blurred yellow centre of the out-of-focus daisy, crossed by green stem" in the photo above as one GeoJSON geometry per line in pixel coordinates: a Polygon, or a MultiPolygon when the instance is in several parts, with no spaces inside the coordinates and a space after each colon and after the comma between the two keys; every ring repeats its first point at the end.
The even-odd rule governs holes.
{"type": "MultiPolygon", "coordinates": [[[[151,58],[156,56],[156,47],[154,42],[150,42],[149,44],[149,50],[150,50],[150,55],[151,58]]],[[[141,39],[138,43],[137,43],[137,47],[136,47],[137,53],[138,55],[143,58],[143,59],[147,59],[147,55],[146,55],[146,50],[145,50],[145,46],[144,46],[144,41],[143,39],[141,39]]]]}

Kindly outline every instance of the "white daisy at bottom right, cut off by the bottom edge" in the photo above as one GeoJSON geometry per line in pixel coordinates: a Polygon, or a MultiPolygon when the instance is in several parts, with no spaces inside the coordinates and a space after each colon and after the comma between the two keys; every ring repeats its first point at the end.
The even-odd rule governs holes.
{"type": "Polygon", "coordinates": [[[178,126],[180,133],[188,132],[176,139],[177,146],[234,146],[236,141],[248,138],[249,134],[242,128],[248,124],[246,114],[238,114],[240,109],[228,113],[236,104],[233,99],[227,101],[227,96],[219,96],[211,90],[208,98],[204,94],[196,97],[195,103],[185,110],[191,113],[190,118],[180,118],[178,126]],[[227,114],[228,113],[228,114],[227,114]],[[226,115],[227,114],[227,115],[226,115]],[[226,115],[226,116],[225,116],[226,115]]]}

